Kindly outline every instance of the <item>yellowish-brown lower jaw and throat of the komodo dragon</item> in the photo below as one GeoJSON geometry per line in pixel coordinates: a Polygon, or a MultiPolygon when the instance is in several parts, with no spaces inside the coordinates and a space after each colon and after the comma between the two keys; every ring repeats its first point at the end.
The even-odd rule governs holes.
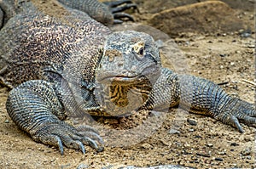
{"type": "Polygon", "coordinates": [[[153,84],[146,76],[108,76],[96,87],[96,98],[110,116],[124,116],[147,99],[153,84]]]}

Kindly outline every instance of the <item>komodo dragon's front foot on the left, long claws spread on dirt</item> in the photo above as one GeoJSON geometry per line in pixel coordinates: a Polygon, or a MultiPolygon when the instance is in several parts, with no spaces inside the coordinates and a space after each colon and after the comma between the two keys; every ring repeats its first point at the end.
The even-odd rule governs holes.
{"type": "Polygon", "coordinates": [[[96,149],[98,152],[103,150],[102,138],[96,130],[89,126],[72,127],[64,121],[49,123],[41,127],[35,134],[32,134],[35,141],[47,145],[58,147],[63,155],[63,145],[69,149],[80,149],[85,154],[84,145],[96,149]]]}

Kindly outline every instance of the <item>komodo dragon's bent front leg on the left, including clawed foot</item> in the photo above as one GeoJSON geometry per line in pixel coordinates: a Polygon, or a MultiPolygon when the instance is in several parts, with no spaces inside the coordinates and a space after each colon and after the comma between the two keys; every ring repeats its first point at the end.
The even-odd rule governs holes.
{"type": "Polygon", "coordinates": [[[58,147],[63,155],[63,144],[70,149],[81,149],[84,144],[101,151],[102,138],[92,127],[67,125],[67,115],[53,84],[45,81],[22,83],[9,93],[7,111],[15,123],[30,133],[32,139],[58,147]]]}

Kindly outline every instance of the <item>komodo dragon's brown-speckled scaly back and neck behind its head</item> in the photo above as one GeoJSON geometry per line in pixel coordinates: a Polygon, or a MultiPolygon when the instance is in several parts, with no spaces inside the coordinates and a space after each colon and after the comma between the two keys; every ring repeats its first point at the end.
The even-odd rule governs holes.
{"type": "Polygon", "coordinates": [[[99,48],[110,33],[108,27],[72,8],[67,8],[67,15],[59,19],[45,15],[30,3],[27,5],[1,30],[1,81],[16,87],[29,80],[48,78],[52,69],[60,73],[83,71],[84,74],[73,74],[68,81],[92,81],[99,48]]]}

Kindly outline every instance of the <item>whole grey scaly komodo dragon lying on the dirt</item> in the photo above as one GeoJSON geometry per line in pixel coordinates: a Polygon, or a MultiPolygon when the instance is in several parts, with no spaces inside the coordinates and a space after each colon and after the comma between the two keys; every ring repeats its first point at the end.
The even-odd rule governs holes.
{"type": "Polygon", "coordinates": [[[33,140],[58,147],[61,155],[63,145],[83,153],[84,144],[102,150],[102,138],[92,127],[62,121],[90,110],[122,116],[180,104],[240,132],[240,121],[256,124],[253,104],[206,79],[163,68],[153,37],[110,31],[105,25],[120,22],[114,18],[131,18],[119,13],[134,7],[130,1],[107,6],[94,0],[59,0],[53,8],[63,14],[34,1],[9,2],[2,1],[0,13],[0,75],[13,88],[7,111],[33,140]],[[126,6],[119,7],[121,3],[126,6]]]}

